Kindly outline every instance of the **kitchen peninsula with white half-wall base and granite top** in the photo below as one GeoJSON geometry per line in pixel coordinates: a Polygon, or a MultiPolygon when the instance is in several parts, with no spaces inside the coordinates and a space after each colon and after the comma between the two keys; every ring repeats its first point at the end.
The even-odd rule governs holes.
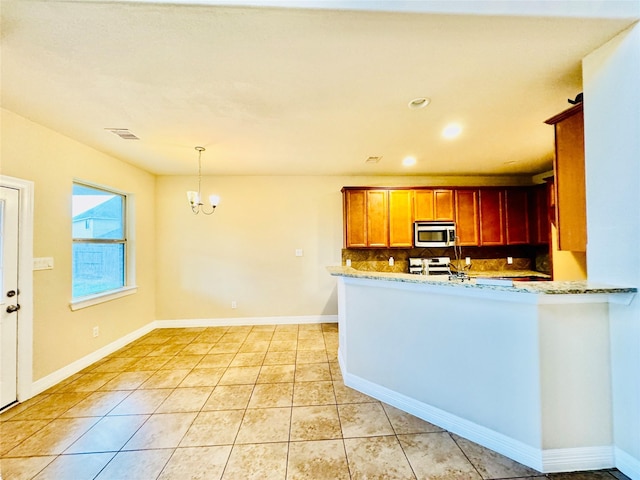
{"type": "Polygon", "coordinates": [[[346,385],[542,472],[614,465],[609,309],[635,288],[328,270],[346,385]]]}

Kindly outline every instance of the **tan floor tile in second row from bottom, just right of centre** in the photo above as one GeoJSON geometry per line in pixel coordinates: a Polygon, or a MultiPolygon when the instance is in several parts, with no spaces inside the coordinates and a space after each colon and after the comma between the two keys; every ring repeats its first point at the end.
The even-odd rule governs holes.
{"type": "Polygon", "coordinates": [[[379,403],[338,405],[344,438],[393,435],[393,427],[379,403]]]}

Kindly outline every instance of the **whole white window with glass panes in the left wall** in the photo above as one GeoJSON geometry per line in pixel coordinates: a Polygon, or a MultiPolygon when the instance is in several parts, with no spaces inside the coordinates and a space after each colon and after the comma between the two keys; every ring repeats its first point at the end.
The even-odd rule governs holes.
{"type": "Polygon", "coordinates": [[[74,182],[72,309],[134,293],[129,196],[74,182]]]}

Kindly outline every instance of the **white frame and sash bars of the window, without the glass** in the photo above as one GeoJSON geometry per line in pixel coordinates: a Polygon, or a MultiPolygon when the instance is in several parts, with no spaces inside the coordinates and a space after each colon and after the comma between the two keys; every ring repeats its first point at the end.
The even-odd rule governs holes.
{"type": "MultiPolygon", "coordinates": [[[[132,295],[138,291],[138,287],[136,285],[136,275],[135,275],[135,197],[133,194],[128,192],[123,192],[113,187],[100,185],[93,182],[88,182],[86,180],[74,178],[72,182],[72,190],[73,186],[79,185],[82,187],[93,188],[96,190],[101,190],[106,193],[119,195],[123,197],[123,239],[76,239],[73,236],[73,228],[71,229],[71,245],[73,250],[73,245],[78,244],[87,244],[87,243],[95,243],[95,244],[123,244],[124,245],[124,285],[122,287],[118,287],[115,289],[104,290],[102,292],[93,293],[90,295],[85,295],[81,297],[73,297],[73,256],[72,256],[72,265],[71,265],[71,301],[69,302],[69,307],[72,311],[80,310],[82,308],[90,307],[93,305],[98,305],[100,303],[108,302],[111,300],[115,300],[117,298],[122,298],[128,295],[132,295]]],[[[73,197],[73,192],[72,192],[73,197]]],[[[72,224],[73,224],[73,216],[72,224]]]]}

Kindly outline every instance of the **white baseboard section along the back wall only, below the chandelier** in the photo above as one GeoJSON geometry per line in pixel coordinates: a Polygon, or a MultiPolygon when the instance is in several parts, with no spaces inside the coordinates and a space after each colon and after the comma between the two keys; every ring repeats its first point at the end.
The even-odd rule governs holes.
{"type": "Polygon", "coordinates": [[[185,318],[156,320],[155,328],[239,327],[245,325],[294,325],[338,323],[337,315],[301,315],[292,317],[185,318]]]}

